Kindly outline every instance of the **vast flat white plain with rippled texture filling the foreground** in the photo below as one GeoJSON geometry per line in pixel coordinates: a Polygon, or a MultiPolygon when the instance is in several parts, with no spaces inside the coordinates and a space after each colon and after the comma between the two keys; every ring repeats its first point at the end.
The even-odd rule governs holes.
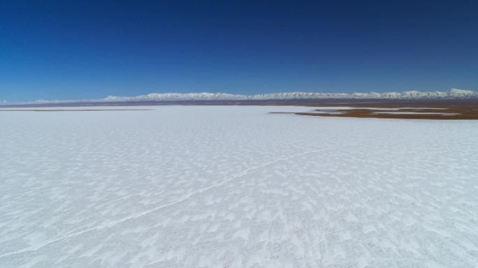
{"type": "Polygon", "coordinates": [[[478,266],[478,121],[149,108],[0,112],[0,267],[478,266]]]}

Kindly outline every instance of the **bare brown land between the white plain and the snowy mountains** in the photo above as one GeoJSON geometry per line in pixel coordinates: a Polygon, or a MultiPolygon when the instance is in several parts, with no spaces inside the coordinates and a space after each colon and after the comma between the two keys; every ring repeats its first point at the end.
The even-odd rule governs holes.
{"type": "MultiPolygon", "coordinates": [[[[130,101],[108,103],[49,103],[35,105],[1,105],[7,107],[98,107],[98,106],[143,106],[143,105],[287,105],[308,107],[354,107],[353,110],[328,110],[324,112],[343,112],[342,114],[317,114],[300,112],[294,114],[315,117],[361,117],[384,119],[441,119],[441,120],[476,120],[478,119],[478,98],[468,99],[417,99],[417,100],[384,100],[384,99],[305,99],[305,100],[266,100],[266,101],[130,101]],[[361,108],[402,108],[400,110],[370,110],[361,108]],[[412,108],[412,109],[403,109],[412,108]],[[419,108],[444,108],[443,110],[419,108]],[[436,114],[377,114],[375,112],[433,112],[436,114]],[[443,115],[440,113],[457,113],[443,115]]],[[[5,111],[5,110],[3,110],[5,111]]],[[[14,110],[19,111],[19,110],[14,110]]],[[[77,110],[28,110],[36,112],[47,111],[77,111],[77,110]]],[[[88,110],[78,110],[88,111],[88,110]]],[[[106,110],[101,110],[106,111],[106,110]]]]}

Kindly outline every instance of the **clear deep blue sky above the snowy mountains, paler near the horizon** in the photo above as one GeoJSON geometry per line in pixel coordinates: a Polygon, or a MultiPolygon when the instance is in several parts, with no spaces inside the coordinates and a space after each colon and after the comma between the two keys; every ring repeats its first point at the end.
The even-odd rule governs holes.
{"type": "Polygon", "coordinates": [[[0,101],[478,91],[478,1],[0,2],[0,101]]]}

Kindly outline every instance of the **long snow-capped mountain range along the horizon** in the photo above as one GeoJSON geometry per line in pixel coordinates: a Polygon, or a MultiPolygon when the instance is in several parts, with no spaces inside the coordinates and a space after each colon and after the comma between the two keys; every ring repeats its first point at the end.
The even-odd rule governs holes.
{"type": "Polygon", "coordinates": [[[107,103],[107,102],[127,102],[127,101],[261,101],[261,100],[294,100],[294,99],[325,99],[325,98],[356,98],[356,99],[415,99],[415,98],[478,98],[478,92],[462,89],[449,89],[444,92],[419,92],[405,91],[387,92],[387,93],[305,93],[305,92],[289,92],[289,93],[273,93],[261,95],[236,95],[224,93],[166,93],[166,94],[147,94],[136,97],[115,97],[94,100],[77,100],[77,101],[33,101],[21,103],[8,103],[3,101],[0,105],[12,104],[43,104],[43,103],[107,103]]]}

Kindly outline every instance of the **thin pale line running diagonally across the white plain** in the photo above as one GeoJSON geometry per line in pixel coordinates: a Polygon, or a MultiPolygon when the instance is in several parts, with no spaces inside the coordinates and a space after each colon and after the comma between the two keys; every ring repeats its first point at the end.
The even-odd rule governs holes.
{"type": "Polygon", "coordinates": [[[36,250],[38,250],[38,249],[40,249],[40,248],[43,248],[43,246],[46,246],[46,245],[48,245],[48,244],[52,244],[53,242],[59,241],[59,240],[61,240],[61,239],[65,239],[65,238],[68,238],[68,237],[75,237],[75,236],[77,236],[77,235],[79,235],[79,234],[83,234],[83,233],[85,233],[85,232],[90,232],[90,231],[94,231],[94,230],[99,230],[99,229],[101,229],[101,228],[105,228],[105,227],[108,227],[108,226],[110,226],[110,225],[115,225],[116,223],[122,223],[123,221],[127,221],[127,220],[129,220],[130,218],[138,218],[138,217],[143,216],[143,215],[145,215],[145,214],[149,214],[149,213],[151,213],[152,211],[156,211],[156,210],[158,210],[158,209],[162,209],[162,208],[164,208],[164,207],[171,206],[172,204],[178,204],[178,203],[180,203],[180,202],[186,200],[187,198],[190,198],[192,195],[194,195],[194,194],[196,194],[196,193],[201,193],[201,192],[203,192],[203,191],[208,191],[210,188],[217,188],[217,187],[219,187],[219,186],[222,186],[222,184],[225,184],[226,182],[231,181],[232,179],[236,179],[236,178],[238,178],[238,177],[242,177],[242,176],[245,176],[245,175],[247,175],[247,174],[252,174],[252,173],[256,172],[257,170],[259,170],[260,168],[264,168],[264,167],[266,167],[266,166],[268,166],[268,165],[272,165],[273,163],[277,163],[277,162],[280,162],[280,161],[287,161],[287,160],[289,160],[289,159],[291,159],[291,158],[295,158],[295,157],[298,157],[298,156],[304,156],[305,154],[318,153],[318,152],[319,152],[319,151],[307,151],[307,152],[302,153],[302,154],[296,154],[296,155],[294,155],[294,156],[289,156],[289,157],[286,157],[286,158],[280,158],[280,159],[277,159],[277,160],[275,160],[275,161],[271,161],[271,162],[268,162],[268,163],[264,163],[264,164],[262,164],[262,165],[258,165],[258,166],[256,166],[256,167],[254,167],[254,168],[248,168],[247,170],[244,170],[244,171],[242,171],[242,172],[239,172],[239,173],[237,173],[236,175],[234,175],[233,177],[230,177],[229,179],[226,179],[226,180],[222,181],[220,184],[212,185],[212,186],[209,186],[209,187],[206,187],[206,188],[201,188],[201,189],[199,189],[199,190],[193,191],[193,192],[191,192],[191,193],[189,193],[189,194],[187,194],[187,195],[184,195],[183,198],[180,198],[180,200],[177,200],[177,201],[175,201],[175,202],[171,202],[171,203],[169,203],[169,204],[164,204],[164,205],[162,205],[161,207],[155,207],[154,209],[150,209],[150,210],[144,211],[143,213],[136,214],[136,215],[133,215],[133,216],[128,216],[128,217],[126,217],[126,218],[122,218],[122,219],[119,219],[119,220],[117,220],[117,221],[113,221],[113,222],[111,222],[111,223],[107,223],[107,224],[100,225],[100,226],[97,226],[97,227],[94,227],[94,228],[91,228],[91,229],[83,230],[83,231],[81,231],[81,232],[75,232],[74,234],[68,234],[68,235],[66,235],[66,236],[64,236],[64,237],[59,237],[59,238],[57,238],[57,239],[53,239],[53,240],[50,240],[50,241],[48,241],[48,242],[45,242],[45,243],[43,243],[43,244],[41,244],[41,245],[39,245],[39,246],[31,246],[31,247],[29,247],[29,248],[20,249],[19,251],[13,251],[13,252],[10,252],[10,253],[5,253],[5,254],[3,254],[3,255],[0,255],[0,258],[6,257],[6,256],[8,256],[8,255],[13,255],[13,254],[18,254],[18,253],[27,252],[27,251],[36,251],[36,250]],[[250,170],[253,170],[253,171],[252,171],[252,172],[249,172],[250,170]]]}

